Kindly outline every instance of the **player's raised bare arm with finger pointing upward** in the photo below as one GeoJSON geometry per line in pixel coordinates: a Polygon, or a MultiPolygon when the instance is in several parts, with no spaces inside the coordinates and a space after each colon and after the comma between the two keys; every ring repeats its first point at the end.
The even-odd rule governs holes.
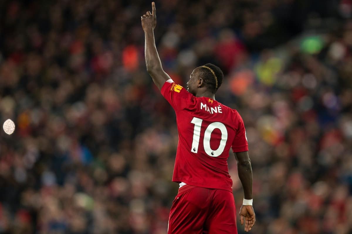
{"type": "Polygon", "coordinates": [[[145,65],[155,85],[161,90],[165,81],[170,79],[170,76],[164,72],[155,46],[154,28],[156,26],[156,9],[154,2],[152,2],[152,13],[147,11],[145,15],[141,16],[141,20],[145,34],[145,65]]]}

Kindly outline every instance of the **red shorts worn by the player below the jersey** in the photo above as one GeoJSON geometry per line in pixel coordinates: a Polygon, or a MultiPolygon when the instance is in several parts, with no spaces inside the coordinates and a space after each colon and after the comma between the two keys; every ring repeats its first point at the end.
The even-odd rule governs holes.
{"type": "Polygon", "coordinates": [[[233,194],[184,185],[172,202],[168,234],[237,234],[233,194]]]}

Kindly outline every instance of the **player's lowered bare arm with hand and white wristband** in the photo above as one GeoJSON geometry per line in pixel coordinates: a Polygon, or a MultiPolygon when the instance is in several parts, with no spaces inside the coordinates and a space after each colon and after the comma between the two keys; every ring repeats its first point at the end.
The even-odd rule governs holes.
{"type": "Polygon", "coordinates": [[[251,202],[253,202],[253,175],[251,160],[249,158],[248,151],[234,154],[237,160],[238,177],[242,183],[244,192],[243,205],[240,209],[240,221],[242,225],[245,223],[244,230],[248,232],[252,229],[254,223],[256,222],[256,214],[254,213],[253,206],[251,205],[251,202]]]}

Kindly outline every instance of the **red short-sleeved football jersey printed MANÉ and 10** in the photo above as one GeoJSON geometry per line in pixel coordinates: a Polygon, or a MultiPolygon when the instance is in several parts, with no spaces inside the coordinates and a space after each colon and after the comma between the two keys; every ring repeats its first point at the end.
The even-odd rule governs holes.
{"type": "Polygon", "coordinates": [[[248,151],[239,113],[210,98],[197,98],[173,80],[161,89],[176,113],[178,146],[172,181],[232,192],[227,158],[248,151]]]}

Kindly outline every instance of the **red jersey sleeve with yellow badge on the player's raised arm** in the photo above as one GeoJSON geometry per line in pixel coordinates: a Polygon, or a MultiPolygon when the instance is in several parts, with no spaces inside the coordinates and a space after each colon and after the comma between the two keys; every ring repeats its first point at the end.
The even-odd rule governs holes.
{"type": "Polygon", "coordinates": [[[161,94],[175,111],[180,111],[195,101],[191,93],[181,85],[177,85],[172,79],[165,81],[161,94]]]}

